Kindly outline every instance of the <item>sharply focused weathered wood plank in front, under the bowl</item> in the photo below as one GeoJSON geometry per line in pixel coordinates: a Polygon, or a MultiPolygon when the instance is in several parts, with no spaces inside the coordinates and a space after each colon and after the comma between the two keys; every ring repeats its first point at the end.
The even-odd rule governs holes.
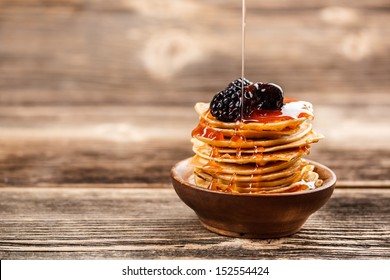
{"type": "Polygon", "coordinates": [[[0,189],[1,259],[390,257],[389,190],[336,189],[291,237],[203,229],[173,190],[0,189]]]}

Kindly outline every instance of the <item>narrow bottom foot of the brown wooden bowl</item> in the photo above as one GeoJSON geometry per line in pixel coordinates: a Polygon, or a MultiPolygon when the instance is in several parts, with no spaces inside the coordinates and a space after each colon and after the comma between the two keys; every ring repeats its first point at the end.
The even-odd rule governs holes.
{"type": "Polygon", "coordinates": [[[223,236],[229,236],[229,237],[238,237],[238,238],[247,238],[247,239],[269,239],[269,238],[280,238],[280,237],[286,237],[290,236],[294,233],[297,233],[301,230],[302,226],[299,226],[297,228],[284,231],[284,232],[235,232],[235,231],[229,231],[226,229],[221,229],[215,226],[212,226],[210,224],[207,224],[205,221],[199,219],[201,225],[206,228],[207,230],[217,233],[219,235],[223,236]]]}

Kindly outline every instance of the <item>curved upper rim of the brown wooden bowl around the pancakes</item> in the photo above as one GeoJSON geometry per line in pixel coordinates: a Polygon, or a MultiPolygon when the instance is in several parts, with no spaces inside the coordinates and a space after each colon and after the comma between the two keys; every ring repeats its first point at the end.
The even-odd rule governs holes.
{"type": "Polygon", "coordinates": [[[313,164],[315,166],[315,168],[319,168],[319,169],[324,169],[326,170],[327,172],[330,173],[330,178],[329,180],[327,181],[324,181],[326,182],[326,184],[322,185],[321,187],[319,188],[316,188],[316,189],[313,189],[313,190],[306,190],[306,191],[300,191],[300,192],[291,192],[291,193],[272,193],[272,194],[264,194],[264,193],[226,193],[226,192],[220,192],[220,191],[214,191],[214,190],[209,190],[209,189],[204,189],[204,188],[200,188],[194,184],[191,184],[190,182],[186,181],[182,176],[180,176],[178,174],[178,171],[177,171],[177,166],[181,165],[181,164],[184,164],[185,162],[188,162],[192,157],[189,157],[189,158],[186,158],[184,160],[181,160],[179,162],[177,162],[171,169],[171,178],[175,181],[177,181],[178,183],[182,184],[182,185],[186,185],[187,187],[190,187],[196,191],[203,191],[203,192],[207,192],[207,193],[210,193],[210,194],[217,194],[217,195],[227,195],[227,196],[245,196],[245,197],[284,197],[284,196],[301,196],[301,195],[310,195],[310,194],[313,194],[313,193],[317,193],[317,192],[321,192],[321,191],[324,191],[326,189],[329,189],[331,187],[333,187],[336,183],[336,180],[337,180],[337,177],[336,177],[336,174],[333,172],[333,170],[331,170],[329,167],[321,164],[321,163],[318,163],[314,160],[308,160],[308,159],[305,159],[307,160],[309,163],[313,164]]]}

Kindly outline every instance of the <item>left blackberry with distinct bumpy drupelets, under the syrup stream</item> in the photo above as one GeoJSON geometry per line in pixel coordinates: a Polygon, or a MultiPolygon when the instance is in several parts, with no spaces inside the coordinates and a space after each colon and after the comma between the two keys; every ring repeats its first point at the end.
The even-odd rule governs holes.
{"type": "MultiPolygon", "coordinates": [[[[244,79],[244,86],[250,85],[251,82],[244,79]]],[[[235,122],[241,116],[241,96],[242,80],[237,79],[231,82],[228,87],[218,92],[210,103],[211,114],[219,121],[235,122]]],[[[253,113],[256,108],[253,93],[244,89],[244,117],[253,113]]]]}

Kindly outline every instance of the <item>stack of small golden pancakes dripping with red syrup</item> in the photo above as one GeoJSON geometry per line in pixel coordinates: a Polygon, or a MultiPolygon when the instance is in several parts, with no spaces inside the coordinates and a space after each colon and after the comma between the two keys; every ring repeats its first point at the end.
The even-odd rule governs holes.
{"type": "MultiPolygon", "coordinates": [[[[195,184],[233,193],[282,193],[322,184],[302,157],[323,138],[312,130],[312,105],[289,101],[277,116],[221,122],[208,103],[197,103],[199,125],[192,132],[195,184]]],[[[266,114],[265,114],[266,115],[266,114]]]]}

